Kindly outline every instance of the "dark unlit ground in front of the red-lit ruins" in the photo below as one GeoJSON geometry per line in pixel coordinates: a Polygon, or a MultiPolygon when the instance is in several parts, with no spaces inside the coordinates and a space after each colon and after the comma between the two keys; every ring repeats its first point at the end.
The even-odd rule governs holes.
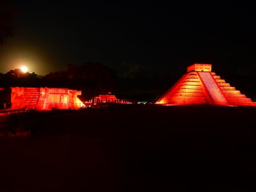
{"type": "Polygon", "coordinates": [[[252,188],[255,114],[126,106],[38,115],[32,136],[0,138],[0,191],[252,188]]]}

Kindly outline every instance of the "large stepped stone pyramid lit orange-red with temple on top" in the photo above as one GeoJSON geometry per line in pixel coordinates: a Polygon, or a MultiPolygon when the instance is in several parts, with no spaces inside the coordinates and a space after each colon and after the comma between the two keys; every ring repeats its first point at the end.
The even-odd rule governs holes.
{"type": "Polygon", "coordinates": [[[256,106],[240,91],[211,72],[211,64],[194,64],[156,104],[214,104],[221,106],[256,106]]]}

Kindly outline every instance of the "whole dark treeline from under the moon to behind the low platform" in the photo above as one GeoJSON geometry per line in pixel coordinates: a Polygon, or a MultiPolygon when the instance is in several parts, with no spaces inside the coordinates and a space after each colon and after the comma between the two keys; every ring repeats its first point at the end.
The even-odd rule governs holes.
{"type": "Polygon", "coordinates": [[[98,94],[115,93],[116,73],[97,62],[83,65],[66,65],[66,70],[50,72],[39,78],[36,73],[23,73],[20,69],[0,73],[0,86],[56,87],[82,91],[82,99],[91,99],[98,94]]]}

